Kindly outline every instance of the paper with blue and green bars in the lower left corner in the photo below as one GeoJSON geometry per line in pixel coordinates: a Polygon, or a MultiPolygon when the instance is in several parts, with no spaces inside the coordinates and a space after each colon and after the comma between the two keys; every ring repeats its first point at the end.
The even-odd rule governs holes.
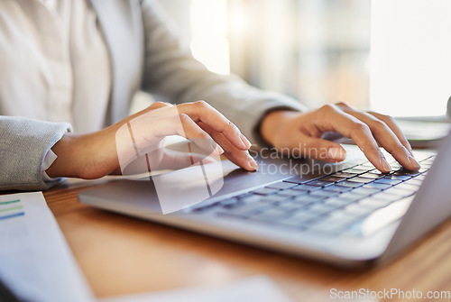
{"type": "Polygon", "coordinates": [[[0,279],[26,301],[95,300],[41,192],[0,196],[0,279]]]}

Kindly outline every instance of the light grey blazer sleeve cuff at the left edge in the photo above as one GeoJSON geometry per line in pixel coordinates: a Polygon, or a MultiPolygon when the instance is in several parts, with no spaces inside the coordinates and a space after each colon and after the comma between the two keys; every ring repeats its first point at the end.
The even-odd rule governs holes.
{"type": "Polygon", "coordinates": [[[0,116],[0,189],[43,190],[59,182],[42,180],[42,161],[70,130],[70,124],[0,116]]]}

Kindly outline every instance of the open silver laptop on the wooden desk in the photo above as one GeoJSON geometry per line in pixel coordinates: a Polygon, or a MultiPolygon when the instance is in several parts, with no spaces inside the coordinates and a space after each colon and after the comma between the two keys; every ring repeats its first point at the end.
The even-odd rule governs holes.
{"type": "MultiPolygon", "coordinates": [[[[78,199],[155,223],[347,267],[391,259],[451,215],[451,134],[438,153],[415,151],[421,165],[416,172],[391,159],[391,173],[382,174],[356,146],[345,148],[354,155],[338,164],[264,151],[254,152],[261,167],[256,172],[228,160],[212,163],[222,165],[223,187],[213,197],[167,215],[161,212],[152,180],[115,181],[81,192],[78,199]]],[[[177,173],[189,178],[193,168],[177,173]]]]}

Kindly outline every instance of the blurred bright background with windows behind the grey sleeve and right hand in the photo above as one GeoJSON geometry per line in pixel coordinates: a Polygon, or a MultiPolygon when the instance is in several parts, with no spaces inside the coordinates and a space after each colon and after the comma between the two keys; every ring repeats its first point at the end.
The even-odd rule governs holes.
{"type": "Polygon", "coordinates": [[[439,21],[451,20],[451,1],[160,2],[194,56],[214,72],[309,107],[344,101],[395,116],[446,113],[451,77],[435,68],[451,58],[451,39],[443,47],[450,28],[439,21]],[[440,89],[431,89],[436,82],[440,89]]]}

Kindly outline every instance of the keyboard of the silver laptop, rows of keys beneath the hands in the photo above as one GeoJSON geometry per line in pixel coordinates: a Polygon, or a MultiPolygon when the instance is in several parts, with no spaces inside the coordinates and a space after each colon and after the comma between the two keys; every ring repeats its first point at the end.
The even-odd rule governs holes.
{"type": "Polygon", "coordinates": [[[369,215],[401,202],[410,204],[434,159],[419,160],[421,169],[415,172],[392,162],[388,174],[367,161],[320,178],[288,178],[207,206],[190,207],[187,212],[299,233],[364,235],[362,224],[369,215]]]}

